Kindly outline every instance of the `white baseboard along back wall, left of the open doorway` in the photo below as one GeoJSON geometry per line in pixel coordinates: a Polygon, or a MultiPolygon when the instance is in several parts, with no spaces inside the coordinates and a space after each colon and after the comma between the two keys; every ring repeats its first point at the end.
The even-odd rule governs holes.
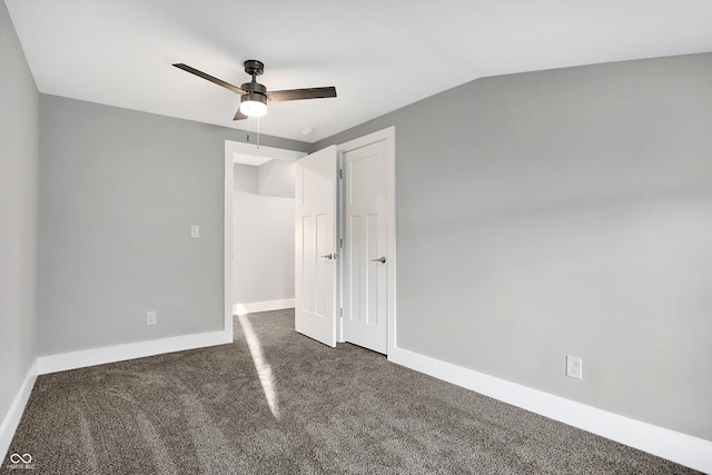
{"type": "MultiPolygon", "coordinates": [[[[233,319],[233,316],[230,316],[230,319],[233,319]]],[[[40,356],[37,358],[38,374],[44,375],[67,369],[83,368],[87,366],[103,365],[107,363],[123,362],[127,359],[144,358],[146,356],[229,343],[233,343],[233,333],[227,334],[225,330],[221,330],[40,356]]]]}

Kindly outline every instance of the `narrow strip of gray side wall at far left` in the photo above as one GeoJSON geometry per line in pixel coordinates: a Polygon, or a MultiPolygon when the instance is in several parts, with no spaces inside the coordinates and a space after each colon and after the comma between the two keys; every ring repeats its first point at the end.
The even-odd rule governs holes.
{"type": "Polygon", "coordinates": [[[0,423],[37,356],[38,98],[0,1],[0,423]]]}

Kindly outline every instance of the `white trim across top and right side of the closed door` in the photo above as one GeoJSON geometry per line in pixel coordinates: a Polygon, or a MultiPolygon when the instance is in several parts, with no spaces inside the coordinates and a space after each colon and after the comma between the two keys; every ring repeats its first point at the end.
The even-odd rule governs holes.
{"type": "MultiPolygon", "coordinates": [[[[396,128],[387,127],[382,130],[368,133],[354,140],[337,146],[339,154],[345,154],[357,148],[366,147],[372,144],[386,141],[386,226],[388,227],[388,265],[386,267],[386,280],[388,295],[386,297],[386,331],[387,331],[387,349],[386,354],[396,347],[396,128]]],[[[340,209],[339,212],[344,210],[340,209]]],[[[340,296],[343,298],[343,296],[340,296]]],[[[339,328],[339,342],[344,342],[344,333],[340,319],[336,319],[339,328]]]]}

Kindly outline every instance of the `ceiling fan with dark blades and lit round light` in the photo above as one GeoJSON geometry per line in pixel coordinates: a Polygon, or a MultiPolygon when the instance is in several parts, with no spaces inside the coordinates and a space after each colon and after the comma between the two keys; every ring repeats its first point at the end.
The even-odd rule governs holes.
{"type": "Polygon", "coordinates": [[[267,113],[267,102],[281,102],[286,100],[300,100],[300,99],[319,99],[336,97],[336,88],[334,86],[325,88],[307,88],[307,89],[288,89],[284,91],[268,91],[267,88],[259,82],[256,78],[265,72],[265,65],[256,59],[248,59],[245,61],[245,72],[253,77],[250,82],[245,82],[239,88],[233,86],[229,82],[225,82],[214,76],[191,68],[188,65],[181,62],[174,66],[184,71],[188,71],[191,75],[196,75],[199,78],[207,79],[210,82],[215,82],[218,86],[229,89],[233,92],[241,95],[240,107],[235,115],[234,120],[247,119],[248,117],[261,117],[267,113]]]}

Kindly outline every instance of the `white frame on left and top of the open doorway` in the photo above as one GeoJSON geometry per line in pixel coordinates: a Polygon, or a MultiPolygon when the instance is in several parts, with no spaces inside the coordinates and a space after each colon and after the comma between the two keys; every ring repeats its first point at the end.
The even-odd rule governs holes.
{"type": "Polygon", "coordinates": [[[297,160],[307,155],[304,151],[289,150],[284,148],[265,147],[255,144],[239,142],[235,140],[225,140],[225,243],[224,243],[224,305],[225,305],[225,337],[233,342],[233,194],[234,190],[234,167],[236,155],[248,155],[258,157],[268,157],[275,160],[297,160]]]}

